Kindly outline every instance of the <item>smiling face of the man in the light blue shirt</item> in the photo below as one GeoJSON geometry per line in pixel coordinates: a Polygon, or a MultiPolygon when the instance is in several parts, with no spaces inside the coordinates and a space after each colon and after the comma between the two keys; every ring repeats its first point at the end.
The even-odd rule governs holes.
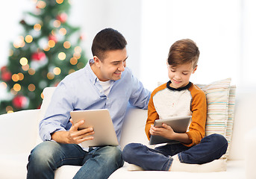
{"type": "Polygon", "coordinates": [[[122,50],[106,51],[104,59],[94,57],[96,66],[99,67],[98,78],[100,81],[117,81],[121,78],[122,72],[126,67],[127,51],[122,50]]]}

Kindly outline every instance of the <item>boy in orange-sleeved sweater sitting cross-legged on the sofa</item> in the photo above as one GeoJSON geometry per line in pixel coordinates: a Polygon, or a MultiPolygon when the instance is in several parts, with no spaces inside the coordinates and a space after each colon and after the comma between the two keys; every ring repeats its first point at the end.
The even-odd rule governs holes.
{"type": "Polygon", "coordinates": [[[166,144],[157,148],[131,143],[125,146],[122,157],[128,163],[145,170],[181,171],[181,163],[203,164],[222,157],[228,147],[224,136],[205,136],[207,104],[205,93],[190,82],[196,72],[199,48],[192,40],[178,40],[169,49],[167,68],[169,82],[152,92],[148,106],[146,135],[163,136],[178,140],[178,144],[166,144]],[[154,127],[157,119],[169,116],[190,116],[189,131],[175,133],[169,125],[154,127]]]}

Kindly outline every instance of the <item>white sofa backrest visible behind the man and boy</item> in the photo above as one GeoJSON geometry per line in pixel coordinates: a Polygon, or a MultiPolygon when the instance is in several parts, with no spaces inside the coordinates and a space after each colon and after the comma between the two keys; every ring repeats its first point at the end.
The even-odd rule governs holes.
{"type": "MultiPolygon", "coordinates": [[[[51,101],[51,95],[54,92],[54,87],[47,87],[43,90],[43,104],[41,106],[40,120],[46,112],[46,109],[51,101]]],[[[239,91],[236,95],[234,128],[231,138],[231,148],[228,156],[229,160],[244,159],[244,137],[247,131],[255,128],[256,117],[254,111],[256,109],[256,92],[239,91]]],[[[148,139],[144,132],[147,119],[147,110],[138,108],[128,108],[128,113],[125,116],[125,122],[122,128],[122,136],[120,140],[121,148],[130,142],[140,142],[148,145],[148,139]]]]}

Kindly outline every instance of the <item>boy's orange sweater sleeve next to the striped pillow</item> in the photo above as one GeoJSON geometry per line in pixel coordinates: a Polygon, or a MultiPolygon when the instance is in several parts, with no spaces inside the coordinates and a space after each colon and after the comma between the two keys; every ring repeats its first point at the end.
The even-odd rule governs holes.
{"type": "Polygon", "coordinates": [[[187,135],[192,140],[190,144],[184,144],[188,147],[199,144],[201,139],[205,136],[205,123],[207,117],[207,103],[205,92],[192,85],[190,87],[190,92],[192,95],[191,102],[191,112],[192,112],[192,122],[189,127],[187,135]]]}

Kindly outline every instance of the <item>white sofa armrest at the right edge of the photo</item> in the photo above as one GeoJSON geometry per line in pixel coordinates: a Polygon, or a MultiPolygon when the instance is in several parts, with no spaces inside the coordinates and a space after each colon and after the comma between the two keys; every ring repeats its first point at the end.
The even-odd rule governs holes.
{"type": "Polygon", "coordinates": [[[253,128],[245,136],[245,159],[246,159],[246,178],[256,178],[255,161],[256,161],[256,128],[253,128]]]}

